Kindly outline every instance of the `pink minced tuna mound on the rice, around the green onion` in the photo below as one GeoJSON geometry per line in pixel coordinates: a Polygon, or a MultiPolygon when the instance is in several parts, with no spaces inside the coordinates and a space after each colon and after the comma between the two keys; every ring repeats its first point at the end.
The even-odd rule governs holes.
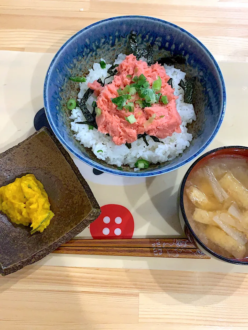
{"type": "Polygon", "coordinates": [[[132,143],[137,140],[137,134],[147,133],[148,135],[164,139],[171,136],[174,132],[181,133],[180,125],[182,119],[176,109],[176,99],[174,89],[167,83],[169,76],[165,69],[158,63],[147,66],[144,61],[138,61],[133,54],[126,56],[125,60],[117,67],[118,73],[114,76],[111,83],[101,86],[94,81],[88,83],[88,87],[94,89],[98,96],[97,106],[101,109],[101,115],[96,117],[98,130],[104,134],[109,134],[116,145],[123,143],[132,143]],[[151,107],[140,107],[135,103],[140,99],[138,93],[132,96],[127,102],[134,103],[134,111],[127,112],[126,109],[117,110],[116,104],[112,102],[113,98],[119,96],[117,90],[123,89],[126,85],[133,83],[133,77],[139,77],[143,74],[149,82],[152,83],[161,78],[162,85],[160,93],[167,96],[168,104],[161,102],[152,104],[151,107]],[[131,124],[126,120],[129,115],[134,115],[136,122],[131,124]],[[155,116],[154,116],[155,115],[155,116]],[[153,120],[149,118],[154,118],[153,120]],[[149,121],[147,121],[149,119],[149,121]]]}

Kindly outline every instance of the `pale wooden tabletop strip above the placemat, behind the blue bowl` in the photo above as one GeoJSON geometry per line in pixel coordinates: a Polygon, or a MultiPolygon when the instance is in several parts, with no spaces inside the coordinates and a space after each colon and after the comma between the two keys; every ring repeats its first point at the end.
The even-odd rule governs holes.
{"type": "Polygon", "coordinates": [[[85,26],[130,13],[180,25],[217,60],[248,61],[246,0],[1,0],[0,49],[54,53],[85,26]]]}

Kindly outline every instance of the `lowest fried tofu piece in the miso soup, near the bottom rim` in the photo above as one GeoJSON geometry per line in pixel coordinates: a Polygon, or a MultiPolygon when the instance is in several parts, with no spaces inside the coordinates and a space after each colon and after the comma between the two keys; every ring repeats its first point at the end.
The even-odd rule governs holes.
{"type": "Polygon", "coordinates": [[[242,259],[246,248],[227,235],[222,229],[215,226],[208,226],[205,230],[206,237],[219,245],[224,250],[230,252],[235,258],[242,259]]]}

